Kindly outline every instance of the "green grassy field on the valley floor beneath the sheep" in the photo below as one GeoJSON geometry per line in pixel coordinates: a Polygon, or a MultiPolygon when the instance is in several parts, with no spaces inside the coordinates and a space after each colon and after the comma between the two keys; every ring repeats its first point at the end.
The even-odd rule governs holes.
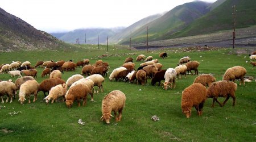
{"type": "MultiPolygon", "coordinates": [[[[35,65],[39,60],[72,59],[77,62],[89,59],[90,64],[99,60],[97,57],[106,54],[106,47],[99,50],[95,46],[90,49],[82,47],[79,51],[30,51],[0,53],[0,64],[11,61],[30,61],[35,65]]],[[[167,59],[158,57],[163,51],[129,51],[124,47],[109,46],[108,56],[101,60],[109,62],[109,74],[121,66],[126,57],[136,57],[139,54],[153,56],[164,65],[163,69],[175,68],[181,57],[189,55],[192,60],[200,62],[199,74],[212,73],[216,80],[222,80],[225,70],[236,65],[246,68],[246,76],[256,76],[252,70],[247,54],[237,55],[233,49],[217,51],[181,52],[179,49],[165,49],[167,59]],[[128,55],[131,53],[130,55],[128,55]]],[[[141,62],[135,62],[138,68],[141,62]]],[[[46,78],[40,77],[42,68],[38,69],[40,83],[46,78]]],[[[81,68],[75,72],[64,72],[63,79],[67,81],[73,74],[80,74],[81,68]]],[[[109,77],[108,74],[108,77],[109,77]]],[[[104,92],[94,94],[96,102],[88,102],[84,107],[67,108],[64,102],[46,105],[44,95],[38,93],[35,103],[20,105],[18,98],[13,103],[1,103],[0,109],[0,141],[256,141],[256,82],[238,86],[236,91],[237,104],[232,106],[232,98],[224,107],[217,103],[214,108],[212,99],[205,102],[203,115],[197,116],[192,109],[191,118],[185,118],[181,112],[181,92],[192,84],[196,76],[187,76],[176,81],[176,88],[163,90],[160,86],[135,85],[125,82],[109,81],[105,77],[104,92]],[[126,94],[126,106],[121,122],[110,124],[101,122],[101,101],[110,91],[121,90],[126,94]],[[10,112],[20,112],[11,116],[10,112]],[[159,122],[151,120],[157,115],[159,122]],[[82,126],[78,120],[82,119],[82,126]]],[[[9,80],[9,74],[0,74],[0,80],[9,80]]],[[[16,78],[12,78],[15,81],[16,78]]],[[[238,83],[238,81],[236,81],[238,83]]],[[[32,99],[31,99],[32,100],[32,99]]],[[[218,98],[221,102],[224,98],[218,98]]]]}

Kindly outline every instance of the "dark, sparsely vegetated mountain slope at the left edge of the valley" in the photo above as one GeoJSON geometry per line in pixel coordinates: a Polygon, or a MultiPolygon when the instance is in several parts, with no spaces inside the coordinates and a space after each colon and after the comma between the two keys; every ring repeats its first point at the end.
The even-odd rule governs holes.
{"type": "Polygon", "coordinates": [[[24,20],[0,8],[0,52],[56,49],[60,40],[47,32],[36,30],[24,20]]]}

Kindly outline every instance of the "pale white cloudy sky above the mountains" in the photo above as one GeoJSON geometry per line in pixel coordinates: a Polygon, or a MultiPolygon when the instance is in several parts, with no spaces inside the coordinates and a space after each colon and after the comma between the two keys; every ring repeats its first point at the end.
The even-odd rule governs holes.
{"type": "MultiPolygon", "coordinates": [[[[0,7],[38,30],[128,27],[193,0],[1,0],[0,7]]],[[[217,0],[202,0],[215,2],[217,0]]]]}

